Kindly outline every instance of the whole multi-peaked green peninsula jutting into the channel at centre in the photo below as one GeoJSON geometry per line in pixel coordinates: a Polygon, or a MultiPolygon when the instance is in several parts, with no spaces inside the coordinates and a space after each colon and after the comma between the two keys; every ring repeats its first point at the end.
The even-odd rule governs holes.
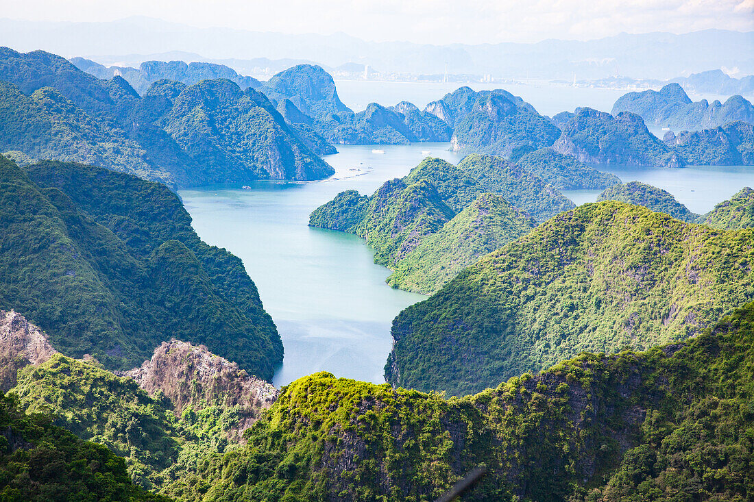
{"type": "Polygon", "coordinates": [[[309,225],[363,237],[375,262],[394,269],[388,283],[433,292],[478,257],[529,231],[529,214],[545,219],[572,207],[516,164],[469,155],[458,166],[426,158],[371,197],[344,191],[314,210],[309,225]]]}

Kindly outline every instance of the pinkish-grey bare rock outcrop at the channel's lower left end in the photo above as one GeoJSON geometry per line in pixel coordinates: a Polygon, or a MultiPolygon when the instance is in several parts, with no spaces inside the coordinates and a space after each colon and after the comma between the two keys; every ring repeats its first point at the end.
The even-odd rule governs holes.
{"type": "Polygon", "coordinates": [[[204,345],[178,340],[163,342],[151,360],[122,375],[133,378],[150,396],[164,393],[177,416],[189,407],[195,411],[207,406],[238,407],[240,421],[231,435],[239,437],[274,403],[278,393],[271,384],[248,375],[204,345]]]}

